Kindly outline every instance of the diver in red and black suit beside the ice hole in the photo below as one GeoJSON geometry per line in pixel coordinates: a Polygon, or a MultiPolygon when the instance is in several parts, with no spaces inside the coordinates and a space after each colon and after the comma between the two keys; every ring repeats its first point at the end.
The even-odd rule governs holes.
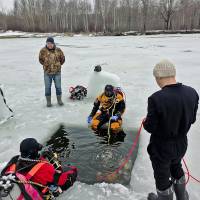
{"type": "MultiPolygon", "coordinates": [[[[25,180],[31,181],[33,186],[37,187],[43,199],[49,193],[57,196],[71,187],[77,178],[77,168],[74,166],[61,167],[56,162],[55,165],[55,163],[49,161],[53,161],[53,153],[45,151],[44,157],[39,154],[41,150],[42,145],[36,139],[24,139],[20,144],[21,155],[13,157],[2,170],[1,175],[18,174],[17,177],[19,177],[19,174],[20,176],[23,175],[25,180]],[[48,159],[47,154],[50,155],[48,159]]],[[[29,196],[31,194],[33,192],[29,191],[29,196]]]]}

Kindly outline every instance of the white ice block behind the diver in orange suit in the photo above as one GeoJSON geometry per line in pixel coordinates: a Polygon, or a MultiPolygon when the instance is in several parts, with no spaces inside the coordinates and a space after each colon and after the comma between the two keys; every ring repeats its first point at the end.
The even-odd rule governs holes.
{"type": "Polygon", "coordinates": [[[114,87],[121,87],[119,76],[105,71],[94,71],[89,79],[87,97],[95,99],[104,91],[105,86],[108,84],[114,87]]]}

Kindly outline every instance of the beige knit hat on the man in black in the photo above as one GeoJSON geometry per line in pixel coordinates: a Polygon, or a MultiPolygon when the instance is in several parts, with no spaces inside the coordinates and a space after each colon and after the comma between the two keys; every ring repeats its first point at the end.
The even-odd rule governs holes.
{"type": "Polygon", "coordinates": [[[174,77],[176,76],[176,68],[170,61],[162,60],[154,67],[153,75],[156,78],[174,77]]]}

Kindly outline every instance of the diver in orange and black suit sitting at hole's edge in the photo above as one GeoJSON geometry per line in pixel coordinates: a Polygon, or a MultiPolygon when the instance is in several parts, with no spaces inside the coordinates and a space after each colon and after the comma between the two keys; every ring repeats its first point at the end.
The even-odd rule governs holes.
{"type": "Polygon", "coordinates": [[[98,130],[105,123],[110,123],[111,131],[121,131],[122,115],[125,111],[125,100],[123,94],[115,91],[112,85],[106,85],[104,92],[94,102],[91,114],[87,122],[93,130],[98,130]]]}

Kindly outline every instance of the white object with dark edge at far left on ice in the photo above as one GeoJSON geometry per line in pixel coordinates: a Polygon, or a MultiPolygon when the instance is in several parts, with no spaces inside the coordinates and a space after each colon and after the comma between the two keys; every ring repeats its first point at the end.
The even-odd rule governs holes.
{"type": "Polygon", "coordinates": [[[0,87],[0,124],[4,123],[12,116],[12,110],[7,106],[3,90],[0,87]]]}

